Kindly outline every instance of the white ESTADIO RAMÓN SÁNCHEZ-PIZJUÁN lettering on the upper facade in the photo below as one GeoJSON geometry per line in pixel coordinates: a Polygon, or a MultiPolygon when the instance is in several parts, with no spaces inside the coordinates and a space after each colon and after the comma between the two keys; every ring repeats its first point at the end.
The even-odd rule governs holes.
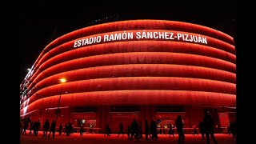
{"type": "Polygon", "coordinates": [[[181,34],[181,33],[171,33],[171,32],[159,32],[159,31],[148,31],[143,30],[142,32],[120,32],[116,34],[105,34],[98,35],[90,38],[82,38],[74,41],[74,48],[80,46],[91,45],[100,42],[114,42],[123,40],[138,40],[138,39],[162,39],[162,40],[172,40],[172,41],[183,41],[183,42],[194,42],[207,44],[206,37],[202,37],[199,34],[181,34]]]}

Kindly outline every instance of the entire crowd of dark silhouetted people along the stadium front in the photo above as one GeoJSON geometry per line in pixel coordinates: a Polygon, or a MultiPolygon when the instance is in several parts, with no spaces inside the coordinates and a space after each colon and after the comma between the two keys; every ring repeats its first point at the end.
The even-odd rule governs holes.
{"type": "MultiPolygon", "coordinates": [[[[30,118],[24,118],[20,121],[20,132],[21,134],[26,135],[26,130],[29,127],[30,124],[30,133],[29,135],[32,134],[32,130],[34,130],[34,134],[35,136],[38,135],[38,130],[41,127],[41,122],[40,120],[38,120],[38,122],[32,122],[30,120],[30,118]]],[[[182,122],[182,116],[178,115],[176,121],[175,121],[175,126],[178,132],[178,144],[179,143],[183,143],[185,141],[185,134],[184,134],[184,130],[183,130],[183,126],[184,123],[182,122]]],[[[43,130],[43,138],[46,138],[47,136],[47,132],[48,130],[50,131],[50,134],[53,134],[53,138],[54,138],[54,134],[55,134],[55,127],[56,127],[56,123],[54,122],[54,120],[51,122],[48,121],[48,119],[46,119],[46,122],[44,122],[43,126],[42,126],[42,130],[43,130]]],[[[173,134],[174,136],[174,130],[173,130],[173,126],[171,124],[169,124],[169,137],[171,134],[173,134]]],[[[58,133],[59,135],[62,135],[62,130],[65,128],[65,132],[67,136],[69,136],[73,130],[74,130],[74,125],[72,125],[71,122],[66,123],[66,126],[64,127],[63,124],[61,123],[59,128],[58,128],[58,133]]],[[[82,135],[83,133],[83,128],[84,125],[81,124],[80,125],[80,135],[82,135]]],[[[214,138],[214,120],[210,115],[210,112],[208,111],[204,118],[202,119],[202,122],[199,122],[198,124],[198,128],[199,128],[199,132],[200,134],[202,134],[202,140],[205,139],[206,136],[206,142],[207,144],[210,144],[210,138],[213,140],[214,144],[217,144],[217,140],[214,138]]],[[[131,122],[130,125],[128,125],[127,127],[127,131],[126,134],[128,135],[128,138],[130,140],[132,140],[133,138],[135,138],[137,141],[139,141],[140,138],[142,138],[142,122],[137,122],[135,119],[133,120],[133,122],[131,122]]],[[[151,139],[151,140],[158,140],[158,132],[157,132],[157,123],[152,120],[150,122],[150,124],[148,123],[148,121],[146,120],[144,123],[144,131],[145,131],[145,139],[151,139]]],[[[230,126],[228,128],[228,133],[232,134],[233,137],[235,138],[235,131],[236,131],[236,123],[235,122],[230,122],[230,126]]],[[[50,134],[48,135],[48,138],[50,138],[50,134]]],[[[111,134],[111,129],[109,126],[109,123],[106,123],[106,127],[105,127],[105,134],[104,136],[110,136],[111,134]]],[[[122,134],[122,136],[124,135],[124,131],[123,131],[123,124],[122,122],[120,122],[119,124],[119,132],[118,132],[118,137],[119,135],[122,134]]],[[[198,134],[198,131],[196,130],[196,126],[194,126],[194,130],[192,134],[198,134]]]]}

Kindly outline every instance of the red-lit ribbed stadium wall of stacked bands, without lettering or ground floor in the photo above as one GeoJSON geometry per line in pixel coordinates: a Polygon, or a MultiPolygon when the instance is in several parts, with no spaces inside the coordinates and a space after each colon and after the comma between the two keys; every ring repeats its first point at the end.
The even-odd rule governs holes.
{"type": "Polygon", "coordinates": [[[34,62],[20,114],[58,106],[236,106],[236,56],[229,35],[206,26],[130,20],[89,26],[50,42],[34,62]],[[196,34],[206,43],[126,39],[74,48],[120,31],[196,34]],[[66,78],[60,83],[59,78],[66,78]]]}

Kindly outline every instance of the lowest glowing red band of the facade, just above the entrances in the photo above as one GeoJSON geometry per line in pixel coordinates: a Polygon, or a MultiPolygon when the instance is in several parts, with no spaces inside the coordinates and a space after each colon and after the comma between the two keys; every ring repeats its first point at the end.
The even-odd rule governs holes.
{"type": "MultiPolygon", "coordinates": [[[[26,112],[46,109],[58,105],[58,95],[41,98],[28,106],[26,112]]],[[[235,106],[234,94],[210,93],[186,90],[114,90],[62,94],[60,106],[100,106],[109,105],[197,105],[235,106]]],[[[21,110],[21,114],[23,109],[21,110]]]]}

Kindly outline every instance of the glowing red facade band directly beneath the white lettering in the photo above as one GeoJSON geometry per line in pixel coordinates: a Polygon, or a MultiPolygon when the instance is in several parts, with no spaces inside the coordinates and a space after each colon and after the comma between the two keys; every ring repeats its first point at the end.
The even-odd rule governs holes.
{"type": "MultiPolygon", "coordinates": [[[[66,45],[66,44],[65,44],[66,45]]],[[[212,58],[218,58],[235,64],[235,55],[218,50],[210,46],[195,45],[186,42],[168,42],[168,41],[131,41],[131,42],[114,42],[103,45],[86,46],[86,48],[74,49],[70,46],[62,46],[62,50],[67,52],[50,58],[40,66],[34,75],[39,74],[50,66],[61,62],[66,62],[74,58],[84,58],[101,54],[127,53],[127,52],[174,52],[183,54],[198,54],[212,58]]],[[[60,49],[56,49],[60,50],[60,49]]],[[[52,54],[52,53],[50,53],[52,54]]],[[[31,78],[34,80],[35,76],[31,78]]]]}

